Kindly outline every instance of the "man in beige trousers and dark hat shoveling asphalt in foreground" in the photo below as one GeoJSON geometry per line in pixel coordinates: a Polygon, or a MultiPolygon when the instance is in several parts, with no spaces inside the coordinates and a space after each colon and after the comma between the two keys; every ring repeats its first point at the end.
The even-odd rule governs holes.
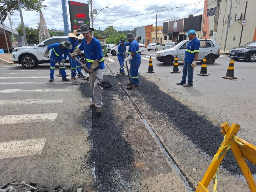
{"type": "Polygon", "coordinates": [[[81,25],[80,30],[77,30],[77,36],[82,34],[84,38],[82,39],[81,45],[73,51],[71,57],[77,57],[81,51],[84,51],[89,69],[88,73],[90,86],[94,98],[94,103],[92,103],[90,107],[96,107],[96,113],[102,113],[102,87],[97,85],[97,83],[100,83],[100,81],[91,73],[94,73],[94,75],[99,79],[103,79],[105,69],[104,57],[101,50],[100,41],[92,37],[90,31],[94,31],[94,28],[90,28],[86,24],[81,25]]]}

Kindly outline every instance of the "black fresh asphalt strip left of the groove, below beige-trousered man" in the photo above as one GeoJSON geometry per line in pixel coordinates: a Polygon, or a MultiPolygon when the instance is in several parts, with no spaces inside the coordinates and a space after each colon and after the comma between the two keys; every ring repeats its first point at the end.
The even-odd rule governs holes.
{"type": "MultiPolygon", "coordinates": [[[[113,76],[104,76],[112,80],[113,76]]],[[[80,83],[83,97],[92,97],[90,85],[80,83]]],[[[92,129],[89,139],[92,142],[90,157],[85,157],[88,163],[95,167],[95,188],[98,191],[122,191],[125,184],[131,181],[131,172],[135,162],[133,149],[123,138],[123,127],[115,118],[113,95],[126,97],[120,86],[115,82],[112,88],[104,88],[102,94],[102,114],[97,114],[92,108],[92,129]]]]}

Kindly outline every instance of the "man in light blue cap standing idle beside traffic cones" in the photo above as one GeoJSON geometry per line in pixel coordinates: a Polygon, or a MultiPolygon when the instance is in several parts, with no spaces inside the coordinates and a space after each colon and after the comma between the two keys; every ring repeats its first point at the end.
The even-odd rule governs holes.
{"type": "Polygon", "coordinates": [[[200,42],[195,35],[195,30],[191,29],[186,34],[189,38],[189,42],[187,43],[187,48],[185,51],[185,55],[183,57],[183,69],[182,69],[182,79],[180,83],[177,85],[183,85],[184,87],[193,86],[193,74],[194,68],[197,65],[197,57],[199,55],[199,47],[200,42]],[[187,78],[187,84],[186,84],[187,78]]]}

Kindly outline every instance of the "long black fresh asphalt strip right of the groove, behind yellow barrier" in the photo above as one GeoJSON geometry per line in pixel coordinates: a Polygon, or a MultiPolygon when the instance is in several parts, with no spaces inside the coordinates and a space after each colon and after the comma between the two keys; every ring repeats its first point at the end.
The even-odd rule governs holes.
{"type": "MultiPolygon", "coordinates": [[[[114,80],[115,78],[122,84],[127,82],[127,77],[114,76],[112,79],[114,80]]],[[[205,117],[198,115],[197,112],[190,110],[172,96],[161,91],[158,85],[146,80],[144,77],[139,76],[139,83],[140,86],[138,88],[128,90],[129,95],[136,98],[136,102],[144,98],[143,100],[146,104],[150,105],[155,111],[165,113],[173,125],[203,152],[211,157],[216,154],[223,141],[220,127],[214,125],[205,117]]],[[[246,162],[252,174],[255,174],[256,166],[247,160],[246,162]]],[[[232,174],[242,174],[231,150],[228,150],[222,160],[221,166],[232,174]]]]}

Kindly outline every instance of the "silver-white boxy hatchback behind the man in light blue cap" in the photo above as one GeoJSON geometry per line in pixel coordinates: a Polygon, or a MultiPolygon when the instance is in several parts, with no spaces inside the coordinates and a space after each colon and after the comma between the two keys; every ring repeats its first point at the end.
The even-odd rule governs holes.
{"type": "MultiPolygon", "coordinates": [[[[200,48],[199,55],[197,60],[203,61],[206,56],[207,64],[212,64],[215,62],[215,59],[220,57],[220,48],[218,44],[212,40],[199,40],[200,48]]],[[[175,56],[177,55],[178,61],[182,61],[183,56],[185,55],[185,50],[187,47],[188,40],[179,42],[176,46],[170,49],[164,49],[156,53],[156,60],[163,62],[165,65],[172,65],[175,56]]]]}

